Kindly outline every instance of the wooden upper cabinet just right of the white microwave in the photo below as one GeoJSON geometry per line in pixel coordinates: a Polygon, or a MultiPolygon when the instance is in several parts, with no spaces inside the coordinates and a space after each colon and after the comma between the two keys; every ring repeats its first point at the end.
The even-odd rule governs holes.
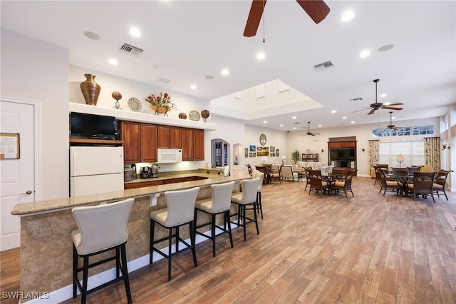
{"type": "Polygon", "coordinates": [[[182,161],[204,161],[204,130],[182,128],[182,161]]]}

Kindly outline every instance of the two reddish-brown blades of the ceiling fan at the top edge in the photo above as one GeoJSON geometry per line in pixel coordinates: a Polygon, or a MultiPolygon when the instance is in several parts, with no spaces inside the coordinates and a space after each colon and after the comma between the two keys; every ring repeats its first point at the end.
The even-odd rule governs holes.
{"type": "MultiPolygon", "coordinates": [[[[299,5],[306,11],[306,13],[311,17],[316,24],[323,21],[329,14],[329,7],[323,0],[296,0],[299,5]]],[[[259,21],[263,15],[264,6],[266,5],[266,0],[253,0],[252,6],[250,6],[249,17],[247,18],[247,24],[244,29],[244,36],[253,37],[257,34],[257,29],[259,26],[259,21]]]]}

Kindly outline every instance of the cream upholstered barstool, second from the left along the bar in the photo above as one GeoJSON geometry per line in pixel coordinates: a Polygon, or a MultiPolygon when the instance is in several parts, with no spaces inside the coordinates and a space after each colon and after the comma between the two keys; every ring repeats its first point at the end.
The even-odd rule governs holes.
{"type": "Polygon", "coordinates": [[[158,209],[150,213],[150,264],[154,251],[168,260],[168,280],[171,280],[171,258],[181,251],[191,249],[193,253],[193,262],[197,267],[197,255],[195,252],[195,230],[193,228],[193,218],[195,215],[195,201],[199,193],[199,187],[182,190],[165,192],[167,208],[158,209]],[[169,235],[160,240],[154,240],[155,223],[169,230],[169,235]],[[189,225],[190,244],[179,237],[179,228],[183,225],[189,225]],[[172,234],[172,228],[175,228],[175,234],[172,234]],[[176,250],[172,253],[172,238],[175,237],[176,250]],[[168,240],[168,253],[163,253],[160,249],[155,248],[155,244],[168,240]],[[185,248],[179,250],[179,243],[185,244],[185,248]]]}

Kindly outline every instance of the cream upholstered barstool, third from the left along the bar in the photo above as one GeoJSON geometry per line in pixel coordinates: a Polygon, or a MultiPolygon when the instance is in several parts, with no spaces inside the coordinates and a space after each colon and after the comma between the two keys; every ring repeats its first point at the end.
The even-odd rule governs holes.
{"type": "Polygon", "coordinates": [[[212,240],[212,256],[215,256],[215,238],[224,233],[229,234],[229,243],[231,243],[231,248],[233,248],[233,237],[231,233],[231,223],[229,221],[229,208],[231,207],[231,196],[233,193],[234,181],[229,183],[220,183],[217,185],[211,185],[212,198],[207,198],[204,200],[196,201],[195,203],[195,233],[202,235],[206,238],[212,240]],[[197,225],[197,213],[202,211],[211,216],[211,221],[209,223],[203,223],[197,225]],[[217,226],[215,220],[217,214],[224,213],[224,223],[223,228],[217,226]],[[211,235],[206,235],[199,232],[197,229],[202,228],[207,225],[211,225],[211,235]],[[228,226],[228,230],[227,230],[228,226]],[[215,234],[215,228],[222,230],[221,233],[215,234]]]}

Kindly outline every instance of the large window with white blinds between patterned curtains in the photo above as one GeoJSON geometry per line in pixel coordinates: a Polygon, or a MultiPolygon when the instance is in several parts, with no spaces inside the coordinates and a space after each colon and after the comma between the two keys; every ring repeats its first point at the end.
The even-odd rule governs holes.
{"type": "Polygon", "coordinates": [[[380,141],[378,163],[388,163],[390,167],[394,168],[424,165],[425,143],[424,141],[380,141]],[[399,154],[404,156],[404,162],[401,164],[396,161],[399,154]]]}

